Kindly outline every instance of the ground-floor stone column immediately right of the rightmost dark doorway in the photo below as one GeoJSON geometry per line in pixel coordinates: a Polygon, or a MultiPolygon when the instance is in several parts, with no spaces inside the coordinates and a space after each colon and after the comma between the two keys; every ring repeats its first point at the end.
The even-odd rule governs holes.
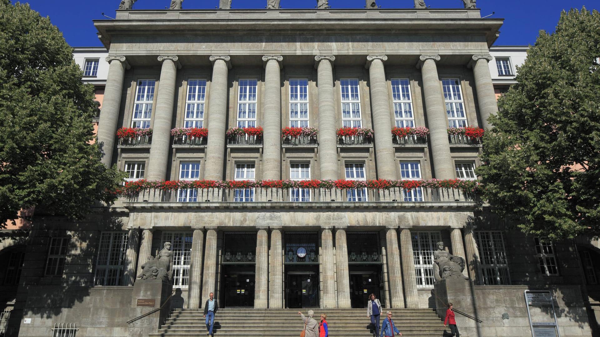
{"type": "Polygon", "coordinates": [[[388,277],[389,277],[389,302],[390,308],[404,308],[404,294],[402,293],[402,273],[400,264],[400,251],[398,251],[398,234],[396,228],[387,228],[385,233],[388,248],[388,277]]]}

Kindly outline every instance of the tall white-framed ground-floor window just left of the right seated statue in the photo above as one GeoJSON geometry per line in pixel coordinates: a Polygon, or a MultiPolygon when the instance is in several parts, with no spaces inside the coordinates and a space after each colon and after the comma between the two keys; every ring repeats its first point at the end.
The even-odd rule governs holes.
{"type": "Polygon", "coordinates": [[[437,249],[436,242],[442,240],[442,234],[439,231],[415,231],[410,235],[415,256],[416,286],[433,287],[433,252],[437,249]]]}

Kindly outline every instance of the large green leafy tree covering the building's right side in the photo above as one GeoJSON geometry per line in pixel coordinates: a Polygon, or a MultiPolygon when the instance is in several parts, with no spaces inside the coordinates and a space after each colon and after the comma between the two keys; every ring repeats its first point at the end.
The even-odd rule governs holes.
{"type": "Polygon", "coordinates": [[[600,234],[600,14],[562,12],[500,98],[478,169],[494,212],[551,239],[600,234]]]}

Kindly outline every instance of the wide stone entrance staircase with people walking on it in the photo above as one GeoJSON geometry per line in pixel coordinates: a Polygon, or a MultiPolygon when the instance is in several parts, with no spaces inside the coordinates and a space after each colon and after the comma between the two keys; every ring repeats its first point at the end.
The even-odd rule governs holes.
{"type": "MultiPolygon", "coordinates": [[[[329,336],[372,336],[367,309],[313,309],[319,321],[327,314],[329,336]]],[[[384,308],[384,311],[387,309],[384,308]]],[[[394,323],[404,337],[440,337],[444,327],[433,309],[391,309],[394,323]]],[[[302,309],[306,315],[307,309],[302,309]]],[[[202,309],[174,309],[157,333],[149,337],[206,336],[202,309]]],[[[383,321],[383,317],[381,319],[383,321]]],[[[298,309],[219,309],[215,316],[214,335],[298,337],[304,324],[298,309]]]]}

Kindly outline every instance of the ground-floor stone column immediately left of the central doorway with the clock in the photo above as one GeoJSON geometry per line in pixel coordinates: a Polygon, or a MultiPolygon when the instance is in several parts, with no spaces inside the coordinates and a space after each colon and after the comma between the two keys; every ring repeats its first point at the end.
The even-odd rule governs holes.
{"type": "Polygon", "coordinates": [[[269,263],[269,308],[283,308],[283,257],[281,228],[271,230],[271,261],[269,263]]]}

